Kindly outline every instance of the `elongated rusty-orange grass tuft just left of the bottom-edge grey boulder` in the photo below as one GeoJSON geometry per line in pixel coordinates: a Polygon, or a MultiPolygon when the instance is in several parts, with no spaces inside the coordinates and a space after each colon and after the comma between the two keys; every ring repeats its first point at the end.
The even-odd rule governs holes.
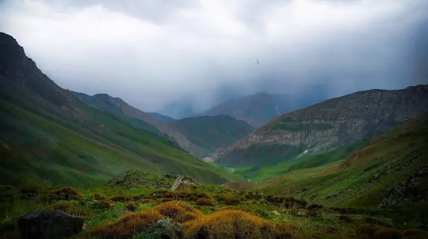
{"type": "Polygon", "coordinates": [[[100,225],[91,230],[93,236],[105,239],[127,239],[145,231],[162,219],[163,216],[156,210],[129,213],[117,222],[100,225]]]}

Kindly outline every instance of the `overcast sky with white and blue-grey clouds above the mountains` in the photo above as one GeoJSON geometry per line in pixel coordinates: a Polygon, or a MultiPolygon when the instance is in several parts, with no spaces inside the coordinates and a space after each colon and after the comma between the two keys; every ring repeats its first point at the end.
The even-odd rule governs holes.
{"type": "Polygon", "coordinates": [[[426,84],[426,12],[426,0],[0,0],[0,31],[63,88],[200,110],[426,84]]]}

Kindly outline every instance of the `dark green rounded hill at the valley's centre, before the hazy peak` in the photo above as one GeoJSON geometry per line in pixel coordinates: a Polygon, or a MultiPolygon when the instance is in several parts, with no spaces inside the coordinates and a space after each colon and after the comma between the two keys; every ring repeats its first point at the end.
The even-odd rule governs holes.
{"type": "Polygon", "coordinates": [[[254,127],[229,115],[199,116],[170,122],[170,126],[206,150],[228,147],[250,134],[254,127]]]}

